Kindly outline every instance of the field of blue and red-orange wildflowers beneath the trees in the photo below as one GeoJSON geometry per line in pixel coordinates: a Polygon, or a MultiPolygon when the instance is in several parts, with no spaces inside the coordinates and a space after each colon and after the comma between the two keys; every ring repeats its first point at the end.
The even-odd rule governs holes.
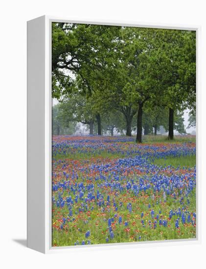
{"type": "Polygon", "coordinates": [[[196,237],[195,140],[52,138],[52,246],[196,237]]]}

